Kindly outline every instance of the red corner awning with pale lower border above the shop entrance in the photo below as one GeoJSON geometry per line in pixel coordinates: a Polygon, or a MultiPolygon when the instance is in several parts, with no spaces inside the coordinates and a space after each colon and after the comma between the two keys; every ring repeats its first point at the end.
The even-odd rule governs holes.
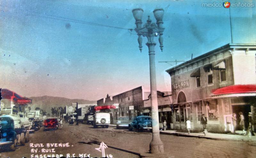
{"type": "Polygon", "coordinates": [[[255,96],[256,84],[231,85],[215,90],[211,98],[255,96]]]}

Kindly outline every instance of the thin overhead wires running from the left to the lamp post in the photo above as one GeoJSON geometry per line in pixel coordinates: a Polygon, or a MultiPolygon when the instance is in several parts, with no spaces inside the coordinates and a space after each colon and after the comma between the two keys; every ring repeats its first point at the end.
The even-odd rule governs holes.
{"type": "MultiPolygon", "coordinates": [[[[31,11],[28,11],[28,10],[26,10],[26,11],[27,12],[31,12],[31,11]]],[[[38,12],[31,12],[31,13],[36,13],[36,14],[39,14],[39,15],[33,15],[33,14],[28,14],[28,15],[30,15],[30,16],[37,16],[37,17],[41,17],[41,18],[47,18],[47,19],[53,19],[53,20],[61,20],[61,21],[75,22],[75,23],[81,23],[81,24],[87,24],[87,25],[101,26],[101,27],[107,27],[107,28],[124,29],[124,30],[129,30],[131,32],[133,31],[133,29],[131,29],[131,28],[121,28],[121,27],[97,24],[97,23],[92,23],[92,22],[87,22],[87,21],[82,21],[82,20],[69,19],[69,18],[64,18],[64,17],[60,17],[60,16],[54,16],[54,15],[49,15],[49,14],[44,14],[46,16],[41,16],[42,13],[38,13],[38,12]],[[55,18],[51,18],[51,17],[47,17],[47,16],[51,16],[51,17],[55,17],[55,18]],[[57,19],[57,18],[61,18],[61,19],[57,19]]]]}

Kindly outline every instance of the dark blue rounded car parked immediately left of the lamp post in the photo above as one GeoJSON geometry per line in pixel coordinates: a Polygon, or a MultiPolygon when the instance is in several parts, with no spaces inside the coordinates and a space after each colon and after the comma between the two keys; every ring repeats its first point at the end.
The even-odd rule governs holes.
{"type": "Polygon", "coordinates": [[[129,130],[138,129],[152,130],[152,117],[150,116],[137,116],[135,121],[132,121],[128,125],[129,130]]]}

